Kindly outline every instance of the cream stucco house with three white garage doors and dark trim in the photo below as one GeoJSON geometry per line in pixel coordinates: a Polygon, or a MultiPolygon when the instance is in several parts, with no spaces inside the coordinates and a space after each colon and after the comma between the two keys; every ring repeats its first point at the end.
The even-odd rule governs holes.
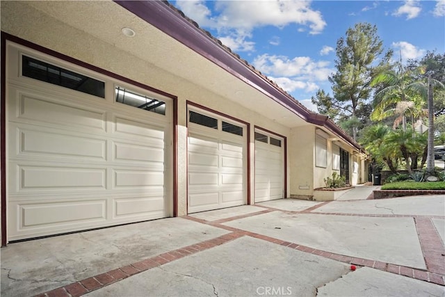
{"type": "Polygon", "coordinates": [[[1,70],[3,245],[366,182],[332,120],[165,2],[1,1],[1,70]]]}

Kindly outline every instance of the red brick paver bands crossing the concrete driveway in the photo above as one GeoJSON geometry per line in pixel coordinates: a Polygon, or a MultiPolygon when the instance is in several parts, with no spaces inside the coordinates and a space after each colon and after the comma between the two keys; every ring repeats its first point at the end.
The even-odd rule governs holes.
{"type": "Polygon", "coordinates": [[[106,273],[102,273],[99,275],[95,275],[91,278],[86,278],[85,280],[80,280],[79,282],[74,282],[72,284],[68,284],[64,287],[59,287],[57,289],[47,291],[45,293],[39,294],[38,296],[42,297],[77,297],[82,296],[83,294],[87,294],[90,291],[95,291],[102,287],[105,287],[108,284],[112,284],[113,282],[118,282],[119,280],[123,280],[124,278],[129,278],[131,275],[135,275],[142,271],[147,271],[150,268],[154,268],[157,266],[161,266],[163,264],[173,262],[177,259],[181,259],[182,257],[186,257],[188,255],[193,255],[197,252],[201,252],[202,250],[208,250],[215,246],[220,246],[229,241],[233,241],[234,239],[238,239],[241,236],[251,236],[257,239],[261,239],[264,241],[268,241],[270,243],[275,243],[280,246],[285,246],[287,248],[292,248],[295,250],[300,250],[301,252],[309,252],[314,255],[318,255],[321,257],[325,257],[328,259],[333,259],[339,262],[344,262],[348,264],[355,264],[356,266],[367,266],[375,269],[379,269],[381,271],[387,271],[389,273],[396,273],[398,275],[404,275],[409,278],[414,278],[416,280],[423,280],[426,282],[432,282],[434,284],[440,284],[442,286],[445,285],[445,248],[442,244],[442,240],[439,238],[439,234],[437,234],[437,230],[435,230],[434,225],[430,218],[444,218],[444,216],[415,216],[415,215],[389,215],[389,214],[340,214],[340,213],[319,213],[319,212],[311,212],[318,207],[322,207],[323,205],[329,203],[330,201],[322,202],[320,204],[315,205],[314,207],[310,207],[303,211],[284,211],[281,209],[273,209],[272,207],[264,207],[266,210],[257,211],[251,214],[243,214],[241,216],[234,216],[230,218],[224,218],[220,220],[207,221],[202,220],[200,218],[194,218],[191,216],[184,216],[184,218],[188,220],[193,220],[197,223],[202,223],[206,225],[211,225],[214,227],[220,227],[225,230],[229,230],[230,233],[225,234],[223,236],[218,236],[214,239],[209,239],[207,241],[202,241],[200,243],[195,243],[191,246],[186,246],[184,248],[178,248],[177,250],[171,250],[169,252],[164,252],[161,255],[156,255],[154,257],[150,257],[148,259],[143,259],[139,262],[123,266],[113,271],[108,271],[106,273]],[[416,223],[417,233],[419,234],[419,240],[421,242],[421,248],[423,251],[423,256],[426,261],[426,266],[428,267],[428,271],[424,271],[421,269],[405,267],[401,265],[385,263],[374,261],[371,259],[362,259],[357,257],[350,257],[347,255],[339,255],[334,252],[328,252],[325,250],[318,250],[316,248],[311,248],[309,246],[303,246],[298,243],[292,243],[289,241],[283,241],[281,239],[275,239],[270,236],[257,234],[254,232],[248,232],[245,230],[240,230],[235,227],[229,227],[226,225],[222,225],[222,223],[229,222],[231,220],[238,220],[240,218],[247,218],[250,216],[257,216],[261,214],[267,214],[271,211],[281,211],[284,213],[290,214],[321,214],[321,215],[337,215],[337,216],[368,216],[368,217],[410,217],[414,218],[416,223]]]}

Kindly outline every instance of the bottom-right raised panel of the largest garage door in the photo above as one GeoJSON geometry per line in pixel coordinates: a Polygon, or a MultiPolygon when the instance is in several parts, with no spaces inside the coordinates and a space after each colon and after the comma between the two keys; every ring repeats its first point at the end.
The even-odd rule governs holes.
{"type": "Polygon", "coordinates": [[[164,199],[158,197],[115,199],[115,217],[140,214],[164,214],[164,199]]]}

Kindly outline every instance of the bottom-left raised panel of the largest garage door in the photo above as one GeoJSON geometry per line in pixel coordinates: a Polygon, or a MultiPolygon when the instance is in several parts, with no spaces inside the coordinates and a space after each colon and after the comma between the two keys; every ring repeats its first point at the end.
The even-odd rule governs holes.
{"type": "Polygon", "coordinates": [[[81,220],[105,220],[106,201],[17,204],[20,229],[81,220]]]}

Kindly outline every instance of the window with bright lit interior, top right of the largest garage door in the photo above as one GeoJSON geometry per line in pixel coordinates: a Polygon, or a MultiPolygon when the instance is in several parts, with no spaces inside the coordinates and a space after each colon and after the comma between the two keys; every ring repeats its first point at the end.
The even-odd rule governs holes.
{"type": "Polygon", "coordinates": [[[120,86],[115,87],[115,97],[116,102],[165,115],[165,102],[159,99],[148,97],[120,86]]]}

